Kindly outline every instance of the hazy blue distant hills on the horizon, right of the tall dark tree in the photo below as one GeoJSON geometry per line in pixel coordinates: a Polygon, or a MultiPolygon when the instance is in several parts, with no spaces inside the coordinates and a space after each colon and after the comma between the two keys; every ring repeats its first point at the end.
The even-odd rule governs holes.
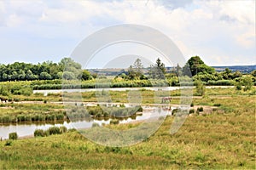
{"type": "Polygon", "coordinates": [[[249,73],[256,70],[256,65],[232,65],[232,66],[212,66],[215,71],[224,71],[229,68],[231,71],[241,71],[242,73],[249,73]]]}

